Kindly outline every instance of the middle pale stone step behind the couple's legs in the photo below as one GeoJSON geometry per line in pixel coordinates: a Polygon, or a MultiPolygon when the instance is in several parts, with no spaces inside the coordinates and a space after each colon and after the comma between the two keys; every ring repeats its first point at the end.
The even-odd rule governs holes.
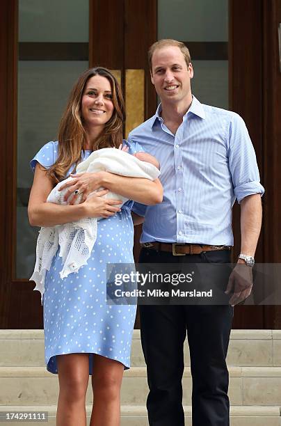
{"type": "MultiPolygon", "coordinates": [[[[280,405],[281,368],[279,367],[230,367],[230,402],[235,405],[280,405]]],[[[0,405],[54,405],[58,398],[58,376],[45,367],[1,367],[0,405]]],[[[184,370],[184,404],[191,404],[191,371],[184,370]]],[[[125,371],[122,383],[123,405],[145,405],[147,397],[145,367],[133,367],[125,371]]],[[[89,386],[87,404],[92,402],[89,386]]]]}

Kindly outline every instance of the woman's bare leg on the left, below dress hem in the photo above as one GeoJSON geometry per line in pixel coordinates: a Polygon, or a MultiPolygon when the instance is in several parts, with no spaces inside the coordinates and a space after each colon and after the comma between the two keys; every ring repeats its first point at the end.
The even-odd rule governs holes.
{"type": "Polygon", "coordinates": [[[86,392],[89,381],[88,354],[57,355],[57,426],[86,426],[86,392]]]}

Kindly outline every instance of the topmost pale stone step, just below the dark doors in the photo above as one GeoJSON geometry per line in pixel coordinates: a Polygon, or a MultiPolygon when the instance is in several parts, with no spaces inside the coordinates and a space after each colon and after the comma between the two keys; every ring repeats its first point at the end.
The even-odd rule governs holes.
{"type": "MultiPolygon", "coordinates": [[[[281,366],[280,330],[232,330],[228,365],[281,366]]],[[[42,330],[1,330],[0,366],[41,366],[44,360],[42,330]]],[[[185,345],[185,365],[190,365],[188,344],[185,345]]],[[[140,344],[140,331],[134,330],[131,366],[145,366],[140,344]]]]}

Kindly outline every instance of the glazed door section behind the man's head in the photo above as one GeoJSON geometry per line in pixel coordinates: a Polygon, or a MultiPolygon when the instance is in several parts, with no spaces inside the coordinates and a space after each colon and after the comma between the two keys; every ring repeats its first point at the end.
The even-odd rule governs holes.
{"type": "Polygon", "coordinates": [[[198,100],[227,109],[228,0],[158,0],[161,38],[174,38],[189,47],[194,68],[191,87],[198,100]]]}

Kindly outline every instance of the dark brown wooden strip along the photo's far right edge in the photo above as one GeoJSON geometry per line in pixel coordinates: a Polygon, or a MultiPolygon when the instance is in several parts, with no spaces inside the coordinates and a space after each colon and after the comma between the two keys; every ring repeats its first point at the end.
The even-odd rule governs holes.
{"type": "MultiPolygon", "coordinates": [[[[263,157],[266,198],[264,200],[264,261],[281,262],[281,71],[278,25],[280,0],[262,5],[263,44],[263,157]]],[[[280,40],[281,43],[281,40],[280,40]]],[[[264,328],[281,329],[281,307],[265,306],[264,328]]]]}

